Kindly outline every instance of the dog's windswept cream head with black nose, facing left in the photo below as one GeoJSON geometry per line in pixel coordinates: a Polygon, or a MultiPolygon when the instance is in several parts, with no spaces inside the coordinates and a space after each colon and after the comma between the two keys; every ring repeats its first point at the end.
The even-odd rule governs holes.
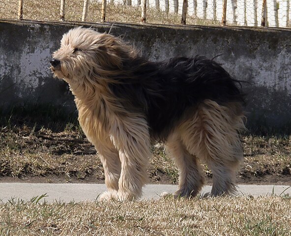
{"type": "Polygon", "coordinates": [[[69,84],[106,78],[121,70],[123,60],[133,52],[113,35],[78,27],[63,35],[60,48],[50,60],[50,68],[55,76],[69,84]]]}

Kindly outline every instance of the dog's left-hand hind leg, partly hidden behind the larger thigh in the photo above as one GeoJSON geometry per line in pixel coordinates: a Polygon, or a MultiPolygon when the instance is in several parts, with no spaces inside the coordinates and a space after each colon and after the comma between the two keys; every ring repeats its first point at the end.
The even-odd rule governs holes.
{"type": "Polygon", "coordinates": [[[186,150],[175,134],[168,139],[166,150],[179,169],[179,187],[173,194],[174,197],[195,197],[204,184],[199,160],[186,150]]]}

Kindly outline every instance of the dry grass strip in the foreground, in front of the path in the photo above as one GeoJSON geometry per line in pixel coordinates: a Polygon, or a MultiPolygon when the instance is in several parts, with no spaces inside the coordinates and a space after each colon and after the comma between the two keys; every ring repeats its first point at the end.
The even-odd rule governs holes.
{"type": "Polygon", "coordinates": [[[291,198],[0,204],[0,235],[290,236],[291,198]]]}

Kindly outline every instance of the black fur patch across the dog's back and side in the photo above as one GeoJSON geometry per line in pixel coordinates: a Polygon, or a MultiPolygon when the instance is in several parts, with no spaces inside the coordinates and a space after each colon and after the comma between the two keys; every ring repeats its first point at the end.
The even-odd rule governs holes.
{"type": "Polygon", "coordinates": [[[151,137],[165,141],[185,111],[204,99],[219,104],[244,103],[234,80],[218,63],[205,57],[150,62],[124,61],[124,70],[110,89],[126,110],[147,118],[151,137]]]}

